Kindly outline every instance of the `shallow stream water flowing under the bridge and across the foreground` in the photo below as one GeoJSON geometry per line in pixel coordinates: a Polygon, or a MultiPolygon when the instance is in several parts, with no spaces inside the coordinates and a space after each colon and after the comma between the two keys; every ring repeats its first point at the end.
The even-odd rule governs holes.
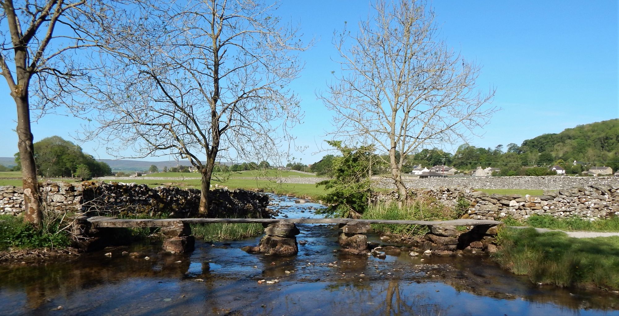
{"type": "MultiPolygon", "coordinates": [[[[322,207],[272,198],[279,205],[272,208],[290,218],[318,217],[314,211],[322,207]]],[[[106,249],[69,262],[1,266],[0,314],[619,315],[619,294],[536,286],[486,257],[339,254],[337,227],[298,227],[299,253],[288,258],[243,252],[258,244],[256,237],[196,241],[196,250],[185,255],[136,244],[112,249],[111,258],[106,249]]]]}

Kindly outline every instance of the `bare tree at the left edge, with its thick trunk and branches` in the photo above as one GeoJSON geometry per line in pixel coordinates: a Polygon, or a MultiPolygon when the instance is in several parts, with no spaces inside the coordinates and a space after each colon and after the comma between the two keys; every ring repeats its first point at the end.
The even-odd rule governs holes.
{"type": "Polygon", "coordinates": [[[17,106],[24,220],[39,225],[43,215],[31,114],[40,116],[66,103],[64,96],[77,90],[75,82],[89,70],[77,62],[77,51],[98,46],[92,17],[106,10],[85,0],[0,0],[0,6],[0,70],[17,106]]]}

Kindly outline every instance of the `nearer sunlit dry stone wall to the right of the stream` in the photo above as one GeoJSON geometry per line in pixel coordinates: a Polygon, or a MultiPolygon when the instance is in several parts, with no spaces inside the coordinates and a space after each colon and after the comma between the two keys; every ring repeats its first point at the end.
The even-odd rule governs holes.
{"type": "MultiPolygon", "coordinates": [[[[544,195],[531,196],[519,194],[485,194],[470,187],[436,187],[412,190],[410,199],[419,196],[432,197],[449,207],[462,207],[464,218],[474,220],[501,220],[511,216],[516,220],[531,215],[551,215],[558,218],[576,217],[595,220],[619,215],[619,185],[579,186],[558,191],[545,190],[544,195]]],[[[397,192],[379,194],[373,197],[376,202],[390,202],[397,192]]]]}

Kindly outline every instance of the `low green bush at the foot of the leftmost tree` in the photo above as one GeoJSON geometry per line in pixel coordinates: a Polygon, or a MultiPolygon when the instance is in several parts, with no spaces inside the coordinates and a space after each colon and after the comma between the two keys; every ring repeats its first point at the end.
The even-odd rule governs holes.
{"type": "Polygon", "coordinates": [[[58,224],[47,224],[36,229],[24,223],[22,216],[0,216],[0,251],[10,248],[35,249],[67,247],[71,240],[64,231],[58,231],[58,224]]]}

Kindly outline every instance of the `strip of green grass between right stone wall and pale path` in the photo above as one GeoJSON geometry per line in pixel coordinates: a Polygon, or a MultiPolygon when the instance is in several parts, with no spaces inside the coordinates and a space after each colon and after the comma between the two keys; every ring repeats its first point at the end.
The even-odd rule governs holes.
{"type": "Polygon", "coordinates": [[[561,229],[563,231],[619,231],[619,217],[589,221],[581,218],[556,218],[550,215],[534,215],[526,224],[536,228],[561,229]]]}

